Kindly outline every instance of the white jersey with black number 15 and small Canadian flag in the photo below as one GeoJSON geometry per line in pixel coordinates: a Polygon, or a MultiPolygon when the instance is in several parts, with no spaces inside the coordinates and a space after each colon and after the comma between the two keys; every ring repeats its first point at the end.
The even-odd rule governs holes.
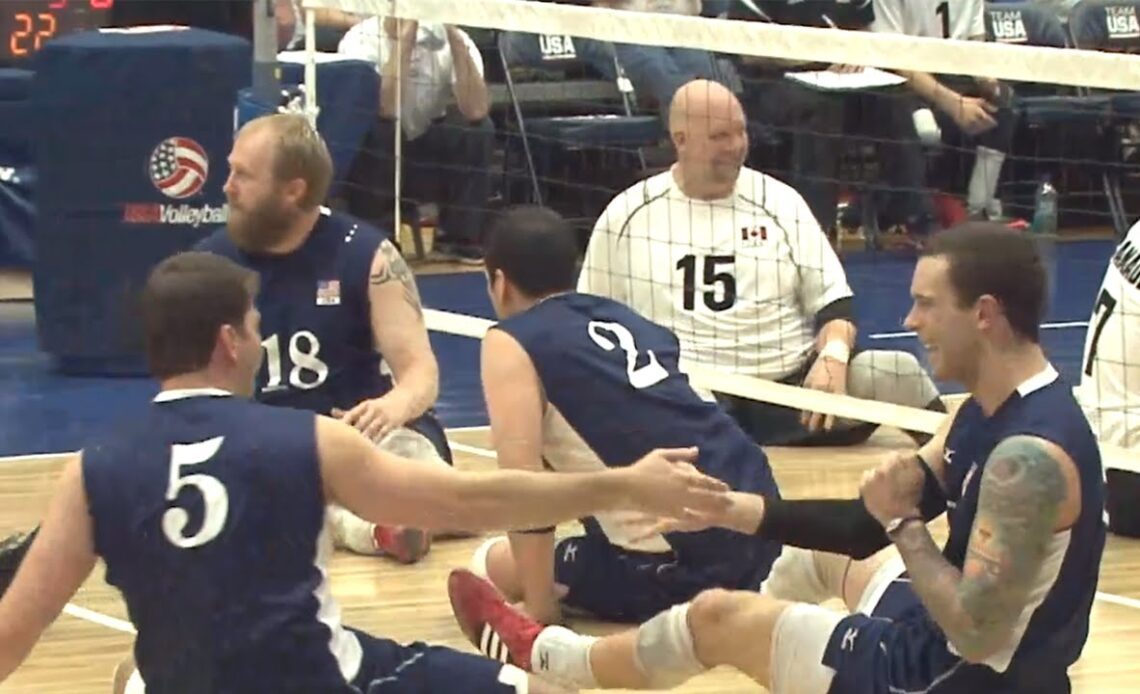
{"type": "Polygon", "coordinates": [[[796,372],[815,313],[852,295],[799,193],[747,168],[723,199],[687,197],[671,170],[618,195],[594,226],[578,291],[671,329],[683,365],[762,378],[796,372]]]}

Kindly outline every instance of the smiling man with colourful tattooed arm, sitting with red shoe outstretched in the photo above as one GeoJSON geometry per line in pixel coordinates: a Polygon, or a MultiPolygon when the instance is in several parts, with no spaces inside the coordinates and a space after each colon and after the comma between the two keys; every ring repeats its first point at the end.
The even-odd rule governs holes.
{"type": "Polygon", "coordinates": [[[718,524],[784,544],[759,595],[709,590],[593,638],[544,628],[459,571],[461,627],[583,688],[669,688],[727,664],[774,694],[1069,692],[1105,546],[1104,481],[1072,386],[1039,344],[1044,286],[1026,235],[974,222],[934,237],[906,326],[936,376],[970,397],[917,454],[868,471],[858,498],[736,495],[718,524]],[[944,513],[939,549],[926,521],[944,513]],[[831,597],[849,613],[820,606],[831,597]]]}

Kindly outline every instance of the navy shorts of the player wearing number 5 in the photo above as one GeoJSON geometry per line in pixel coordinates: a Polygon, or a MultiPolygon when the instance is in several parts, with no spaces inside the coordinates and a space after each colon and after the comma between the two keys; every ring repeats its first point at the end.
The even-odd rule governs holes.
{"type": "Polygon", "coordinates": [[[350,629],[360,640],[360,671],[352,685],[361,694],[515,694],[499,681],[503,663],[423,643],[401,645],[350,629]]]}

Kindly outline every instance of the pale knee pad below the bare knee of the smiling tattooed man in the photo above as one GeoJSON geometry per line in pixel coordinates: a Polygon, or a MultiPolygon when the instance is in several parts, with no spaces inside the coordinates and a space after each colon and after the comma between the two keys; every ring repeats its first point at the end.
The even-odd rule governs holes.
{"type": "Polygon", "coordinates": [[[689,630],[689,603],[674,605],[637,629],[637,667],[654,689],[668,689],[705,671],[689,630]]]}

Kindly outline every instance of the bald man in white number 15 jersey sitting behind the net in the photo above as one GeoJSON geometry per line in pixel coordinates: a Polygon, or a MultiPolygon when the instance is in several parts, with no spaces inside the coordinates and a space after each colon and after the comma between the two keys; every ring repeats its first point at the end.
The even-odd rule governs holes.
{"type": "MultiPolygon", "coordinates": [[[[743,165],[748,134],[736,97],[715,82],[689,82],[670,106],[669,132],[676,163],[610,202],[594,226],[578,291],[670,328],[683,369],[944,411],[913,354],[855,350],[842,266],[799,193],[743,165]]],[[[846,446],[874,430],[706,394],[762,444],[846,446]]]]}

